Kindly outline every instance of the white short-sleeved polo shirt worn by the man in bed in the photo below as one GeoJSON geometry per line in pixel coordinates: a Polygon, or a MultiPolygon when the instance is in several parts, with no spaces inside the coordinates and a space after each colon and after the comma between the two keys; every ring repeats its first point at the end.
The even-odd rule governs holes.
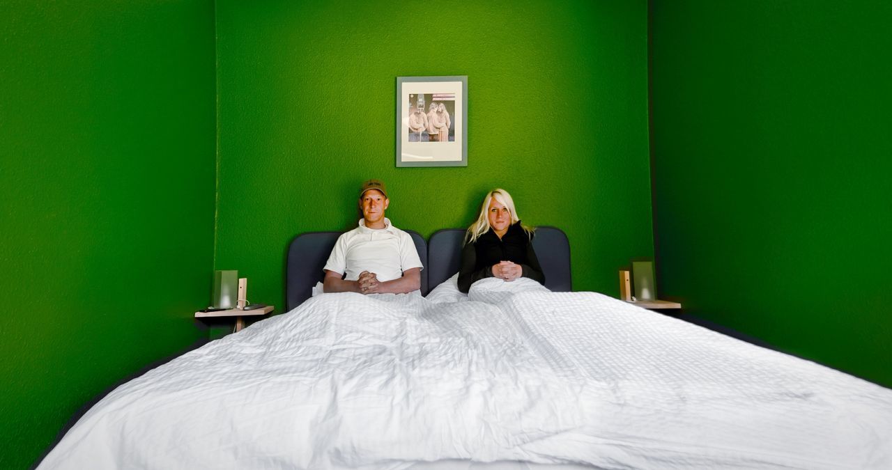
{"type": "Polygon", "coordinates": [[[359,227],[338,237],[324,269],[345,273],[347,281],[355,281],[359,273],[368,271],[386,282],[399,279],[403,271],[411,268],[424,268],[412,235],[384,218],[384,228],[368,228],[365,219],[360,219],[359,227]]]}

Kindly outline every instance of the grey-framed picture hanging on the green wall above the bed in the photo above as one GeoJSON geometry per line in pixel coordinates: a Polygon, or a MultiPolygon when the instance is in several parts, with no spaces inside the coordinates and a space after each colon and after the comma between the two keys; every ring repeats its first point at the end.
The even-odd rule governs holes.
{"type": "Polygon", "coordinates": [[[467,167],[467,76],[396,78],[396,166],[467,167]]]}

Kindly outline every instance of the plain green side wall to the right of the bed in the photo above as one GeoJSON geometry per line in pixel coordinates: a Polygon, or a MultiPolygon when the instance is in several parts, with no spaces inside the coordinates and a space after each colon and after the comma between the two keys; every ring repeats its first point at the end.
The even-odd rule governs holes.
{"type": "Polygon", "coordinates": [[[892,386],[888,2],[653,1],[661,291],[892,386]]]}

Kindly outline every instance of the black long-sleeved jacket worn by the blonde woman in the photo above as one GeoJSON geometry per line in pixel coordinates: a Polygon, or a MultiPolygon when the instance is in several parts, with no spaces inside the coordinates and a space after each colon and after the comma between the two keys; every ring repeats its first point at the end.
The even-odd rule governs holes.
{"type": "Polygon", "coordinates": [[[471,284],[492,277],[492,265],[500,261],[511,261],[524,268],[524,277],[529,277],[540,284],[545,284],[545,275],[539,266],[539,259],[533,251],[531,238],[526,235],[520,221],[517,221],[508,232],[499,235],[490,229],[477,237],[474,243],[468,243],[461,249],[461,268],[458,269],[458,290],[467,293],[471,284]]]}

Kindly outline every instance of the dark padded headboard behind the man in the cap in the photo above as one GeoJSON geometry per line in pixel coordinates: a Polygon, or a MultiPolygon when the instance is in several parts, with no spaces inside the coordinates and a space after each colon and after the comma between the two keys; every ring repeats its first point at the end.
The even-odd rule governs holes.
{"type": "MultiPolygon", "coordinates": [[[[414,230],[405,230],[412,235],[418,258],[424,269],[421,270],[421,293],[427,293],[427,243],[424,237],[414,230]]],[[[310,298],[312,288],[325,277],[322,268],[326,266],[328,255],[335,247],[337,237],[343,232],[308,232],[297,235],[288,246],[288,260],[285,267],[285,300],[288,310],[310,298]]]]}

